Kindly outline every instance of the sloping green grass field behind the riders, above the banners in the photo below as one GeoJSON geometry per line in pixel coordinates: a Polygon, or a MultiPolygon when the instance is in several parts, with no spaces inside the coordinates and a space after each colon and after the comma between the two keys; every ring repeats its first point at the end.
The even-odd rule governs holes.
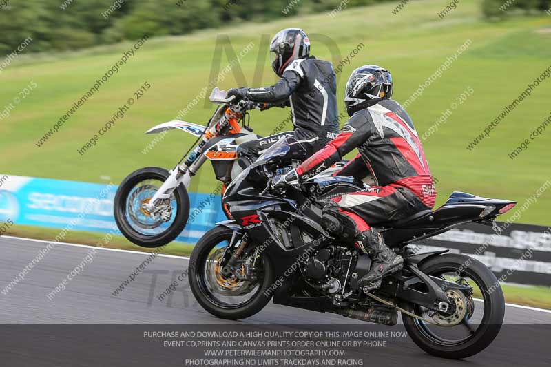
{"type": "MultiPolygon", "coordinates": [[[[281,28],[300,25],[311,36],[313,54],[323,59],[331,58],[327,45],[333,41],[343,59],[359,43],[364,43],[365,47],[340,73],[340,101],[350,72],[365,63],[375,63],[391,70],[395,99],[404,102],[446,58],[470,40],[470,46],[457,61],[407,109],[419,134],[423,134],[464,90],[472,87],[472,96],[458,105],[438,131],[424,141],[430,167],[438,179],[438,204],[454,190],[523,203],[551,178],[550,135],[543,134],[532,141],[528,150],[514,160],[508,154],[550,114],[551,81],[541,83],[475,149],[469,151],[466,147],[529,82],[550,66],[551,17],[489,23],[481,18],[479,2],[467,0],[461,1],[446,19],[437,16],[441,1],[411,2],[396,15],[391,13],[395,6],[396,3],[386,3],[353,8],[339,12],[333,19],[322,13],[205,30],[189,36],[149,39],[42,147],[35,145],[37,140],[132,43],[64,54],[21,56],[0,74],[0,112],[26,85],[34,81],[37,87],[14,106],[9,117],[0,120],[0,172],[117,183],[139,167],[171,167],[191,143],[191,136],[171,132],[145,155],[142,151],[154,136],[143,132],[174,119],[209,83],[216,37],[229,35],[236,52],[254,43],[240,68],[250,86],[259,86],[274,81],[267,57],[261,80],[258,78],[252,85],[259,52],[267,56],[267,49],[260,50],[260,36],[269,37],[281,28]],[[130,106],[125,117],[95,147],[81,156],[77,149],[97,134],[146,81],[152,85],[151,89],[130,106]]],[[[335,60],[335,65],[339,61],[335,60]]],[[[221,67],[226,65],[228,59],[224,55],[221,67]]],[[[236,69],[233,71],[218,83],[220,87],[243,83],[236,69]]],[[[341,102],[340,108],[343,107],[341,102]]],[[[253,112],[251,125],[259,134],[269,134],[287,113],[282,109],[253,112]]],[[[201,101],[184,119],[205,123],[210,114],[211,107],[205,107],[201,101]]],[[[200,184],[196,181],[194,185],[192,189],[203,192],[216,187],[210,167],[203,169],[200,184]]],[[[551,196],[545,193],[518,221],[551,224],[550,205],[551,196]]]]}

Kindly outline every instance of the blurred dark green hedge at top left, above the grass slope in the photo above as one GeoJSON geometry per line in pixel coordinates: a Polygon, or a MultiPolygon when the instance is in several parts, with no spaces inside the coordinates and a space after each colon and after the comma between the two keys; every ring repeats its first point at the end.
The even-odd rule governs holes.
{"type": "Polygon", "coordinates": [[[233,21],[268,21],[388,0],[9,0],[0,9],[0,54],[74,50],[138,39],[143,34],[186,34],[233,21]],[[107,14],[111,7],[118,9],[107,14]],[[284,12],[285,10],[285,12],[284,12]]]}

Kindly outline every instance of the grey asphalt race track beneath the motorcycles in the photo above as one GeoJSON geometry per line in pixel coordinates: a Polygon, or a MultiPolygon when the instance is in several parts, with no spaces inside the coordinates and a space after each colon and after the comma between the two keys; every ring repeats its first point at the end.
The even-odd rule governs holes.
{"type": "MultiPolygon", "coordinates": [[[[135,325],[138,327],[136,330],[142,332],[147,328],[143,324],[178,325],[178,330],[185,329],[182,324],[230,324],[233,327],[288,324],[304,330],[321,324],[372,325],[340,315],[273,304],[240,322],[216,319],[196,304],[186,280],[178,284],[175,293],[159,301],[157,297],[187,269],[187,259],[165,255],[154,258],[133,282],[114,296],[117,287],[127,280],[148,254],[69,244],[56,244],[23,280],[6,292],[5,287],[46,245],[47,242],[42,241],[0,238],[0,291],[3,290],[0,293],[0,322],[3,324],[0,328],[0,366],[90,366],[92,359],[94,365],[109,361],[109,366],[183,366],[183,358],[175,355],[175,350],[144,350],[137,347],[144,342],[140,332],[134,333],[134,336],[127,333],[125,339],[121,339],[121,335],[113,335],[112,341],[90,337],[87,343],[78,343],[77,346],[74,335],[59,332],[60,327],[62,331],[70,329],[63,329],[63,325],[54,328],[46,324],[83,324],[88,325],[88,331],[94,330],[100,334],[102,330],[112,333],[116,328],[97,324],[135,325]],[[90,264],[83,262],[87,255],[93,259],[90,264]],[[83,264],[81,274],[66,282],[65,290],[52,296],[50,292],[79,264],[83,264]],[[118,348],[107,348],[107,345],[113,345],[111,343],[118,348]],[[57,350],[61,346],[63,351],[57,350]],[[81,355],[81,358],[74,359],[76,355],[81,355]],[[100,362],[98,355],[105,360],[100,362]],[[69,356],[73,360],[67,364],[66,358],[69,356]],[[5,364],[6,361],[11,363],[5,364]]],[[[227,326],[227,330],[231,330],[232,326],[227,326]]],[[[402,330],[402,326],[379,327],[378,330],[402,330]]],[[[123,326],[118,328],[130,330],[123,326]]],[[[503,326],[495,342],[479,355],[463,361],[427,355],[408,338],[393,341],[386,348],[355,349],[353,353],[366,361],[364,365],[371,360],[384,366],[549,366],[550,340],[550,312],[507,306],[506,326],[503,326]]]]}

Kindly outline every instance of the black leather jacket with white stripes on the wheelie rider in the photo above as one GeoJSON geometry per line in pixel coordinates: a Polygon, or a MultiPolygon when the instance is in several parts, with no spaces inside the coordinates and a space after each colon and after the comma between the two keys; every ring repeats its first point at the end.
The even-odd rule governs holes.
{"type": "Polygon", "coordinates": [[[326,143],[339,131],[336,93],[333,65],[309,57],[291,61],[275,85],[247,90],[247,98],[291,107],[295,130],[302,131],[305,139],[318,136],[320,143],[326,143]]]}

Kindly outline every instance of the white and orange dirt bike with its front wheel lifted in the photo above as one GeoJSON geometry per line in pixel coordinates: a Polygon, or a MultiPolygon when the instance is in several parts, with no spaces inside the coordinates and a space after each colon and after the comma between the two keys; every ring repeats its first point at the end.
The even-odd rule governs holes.
{"type": "MultiPolygon", "coordinates": [[[[238,165],[238,147],[260,136],[249,127],[250,109],[256,103],[227,98],[215,88],[209,100],[218,104],[207,126],[173,120],[156,125],[145,134],[158,134],[178,129],[197,137],[187,153],[171,171],[160,167],[144,167],[129,174],[118,187],[114,200],[114,216],[118,229],[132,243],[141,247],[160,247],[180,235],[189,217],[187,189],[198,169],[210,160],[217,180],[222,182],[222,195],[229,183],[242,171],[238,165]]],[[[345,162],[337,163],[318,176],[329,176],[345,162]]],[[[222,207],[225,215],[231,216],[222,207]]]]}

